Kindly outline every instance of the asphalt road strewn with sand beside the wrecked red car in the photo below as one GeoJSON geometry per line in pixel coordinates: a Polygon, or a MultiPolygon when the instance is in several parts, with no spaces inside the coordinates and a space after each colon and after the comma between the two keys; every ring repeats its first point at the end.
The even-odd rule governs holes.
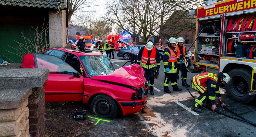
{"type": "MultiPolygon", "coordinates": [[[[117,57],[116,53],[114,53],[114,55],[115,59],[112,59],[111,61],[113,62],[115,69],[118,69],[126,62],[126,60],[117,57]]],[[[127,63],[126,65],[129,64],[130,63],[127,63]]],[[[196,74],[198,73],[188,72],[188,84],[191,85],[191,78],[196,74]]],[[[155,79],[155,95],[146,95],[148,98],[147,105],[143,112],[138,114],[142,115],[144,121],[150,126],[149,129],[157,136],[256,136],[256,127],[251,126],[250,124],[228,118],[206,108],[202,108],[202,113],[195,113],[191,111],[189,107],[193,103],[194,99],[190,96],[187,89],[181,86],[181,79],[178,81],[178,86],[179,88],[182,88],[182,91],[172,91],[172,87],[169,85],[169,89],[172,91],[171,94],[164,92],[163,82],[164,72],[163,62],[161,61],[159,79],[155,79]]],[[[199,96],[191,87],[189,87],[189,90],[192,91],[194,96],[199,96]]],[[[229,99],[225,93],[225,89],[222,88],[220,91],[223,101],[229,104],[229,109],[242,115],[251,122],[256,123],[256,118],[254,118],[256,113],[255,103],[250,105],[237,103],[229,99]]],[[[225,114],[232,115],[226,110],[223,110],[220,106],[217,105],[217,107],[217,110],[220,110],[225,114]]]]}

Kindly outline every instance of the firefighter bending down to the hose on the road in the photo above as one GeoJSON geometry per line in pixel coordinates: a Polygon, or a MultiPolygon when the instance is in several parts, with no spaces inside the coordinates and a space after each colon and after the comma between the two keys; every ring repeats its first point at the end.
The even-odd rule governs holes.
{"type": "Polygon", "coordinates": [[[219,85],[229,83],[231,80],[230,76],[227,73],[220,72],[218,75],[205,72],[198,74],[192,79],[192,88],[194,88],[200,96],[194,101],[191,105],[191,109],[203,112],[199,107],[203,105],[204,102],[212,106],[212,110],[216,110],[215,105],[215,95],[222,101],[219,92],[219,85]]]}

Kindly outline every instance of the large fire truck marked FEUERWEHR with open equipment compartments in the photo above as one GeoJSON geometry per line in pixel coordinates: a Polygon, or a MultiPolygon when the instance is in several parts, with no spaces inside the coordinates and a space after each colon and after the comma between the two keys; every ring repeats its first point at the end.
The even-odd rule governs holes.
{"type": "MultiPolygon", "coordinates": [[[[256,0],[210,0],[190,11],[196,15],[194,72],[228,73],[229,97],[249,103],[256,94],[256,0]],[[255,68],[254,68],[255,67],[255,68]]],[[[192,13],[192,14],[191,14],[192,13]]]]}

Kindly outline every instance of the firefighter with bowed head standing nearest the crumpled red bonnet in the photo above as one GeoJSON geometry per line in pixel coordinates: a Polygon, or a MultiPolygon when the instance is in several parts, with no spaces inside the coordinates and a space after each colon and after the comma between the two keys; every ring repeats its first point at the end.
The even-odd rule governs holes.
{"type": "Polygon", "coordinates": [[[146,46],[142,47],[139,51],[137,58],[137,64],[140,64],[145,70],[144,77],[149,81],[149,89],[147,89],[144,95],[148,94],[150,91],[151,95],[154,95],[154,72],[160,69],[160,54],[158,49],[154,46],[153,41],[149,40],[146,46]],[[157,67],[157,68],[156,68],[157,67]]]}

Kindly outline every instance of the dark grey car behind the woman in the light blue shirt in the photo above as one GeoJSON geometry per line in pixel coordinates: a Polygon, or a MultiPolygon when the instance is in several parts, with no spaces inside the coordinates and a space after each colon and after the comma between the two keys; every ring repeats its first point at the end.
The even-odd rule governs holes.
{"type": "MultiPolygon", "coordinates": [[[[133,45],[131,46],[128,46],[128,47],[125,47],[125,48],[121,48],[119,49],[119,51],[117,52],[117,56],[118,57],[123,57],[125,60],[129,60],[130,59],[130,53],[129,53],[129,50],[130,48],[132,47],[133,45]]],[[[139,50],[141,47],[145,46],[145,45],[136,45],[139,50]]],[[[160,56],[161,56],[161,60],[163,60],[163,56],[164,56],[164,51],[162,49],[158,49],[159,50],[159,53],[160,53],[160,56]]]]}

